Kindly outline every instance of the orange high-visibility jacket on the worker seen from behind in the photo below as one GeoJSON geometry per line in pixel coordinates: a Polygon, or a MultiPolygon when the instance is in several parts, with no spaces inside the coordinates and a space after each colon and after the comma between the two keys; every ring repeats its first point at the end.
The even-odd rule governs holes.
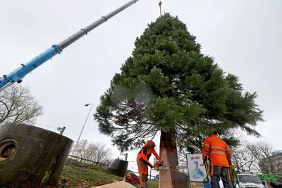
{"type": "Polygon", "coordinates": [[[204,139],[204,146],[202,151],[203,159],[209,156],[211,165],[227,166],[228,161],[231,162],[231,150],[226,142],[224,142],[215,134],[204,139]]]}

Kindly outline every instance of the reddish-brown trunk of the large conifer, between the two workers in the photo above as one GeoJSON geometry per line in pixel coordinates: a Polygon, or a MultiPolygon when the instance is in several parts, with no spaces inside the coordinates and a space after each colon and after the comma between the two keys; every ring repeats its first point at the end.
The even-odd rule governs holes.
{"type": "Polygon", "coordinates": [[[170,170],[159,171],[159,188],[180,188],[180,178],[178,175],[178,156],[176,150],[176,138],[173,132],[161,130],[160,157],[164,161],[164,166],[169,166],[170,170]]]}

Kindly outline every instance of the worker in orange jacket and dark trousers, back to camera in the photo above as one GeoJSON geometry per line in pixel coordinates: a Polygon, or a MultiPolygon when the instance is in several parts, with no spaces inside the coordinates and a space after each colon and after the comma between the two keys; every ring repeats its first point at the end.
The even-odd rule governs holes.
{"type": "Polygon", "coordinates": [[[209,157],[212,188],[220,188],[220,178],[224,188],[232,188],[230,177],[231,150],[226,142],[217,137],[216,134],[215,131],[207,139],[204,139],[202,157],[204,163],[207,163],[209,157]]]}

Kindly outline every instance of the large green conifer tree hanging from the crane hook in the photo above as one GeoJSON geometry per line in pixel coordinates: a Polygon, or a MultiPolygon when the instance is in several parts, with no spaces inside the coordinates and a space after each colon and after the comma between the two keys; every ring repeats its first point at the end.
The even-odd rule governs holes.
{"type": "Polygon", "coordinates": [[[94,114],[99,131],[118,149],[140,148],[161,132],[161,157],[175,167],[176,145],[195,151],[214,130],[226,134],[240,127],[259,136],[252,128],[262,120],[257,94],[243,93],[238,77],[201,54],[195,39],[168,13],[137,37],[94,114]]]}

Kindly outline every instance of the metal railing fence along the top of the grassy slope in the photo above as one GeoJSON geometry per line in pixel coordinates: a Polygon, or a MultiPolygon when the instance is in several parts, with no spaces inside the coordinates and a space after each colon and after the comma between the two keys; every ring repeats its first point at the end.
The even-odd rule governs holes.
{"type": "MultiPolygon", "coordinates": [[[[78,157],[78,156],[69,155],[69,157],[70,157],[69,159],[74,158],[73,160],[78,162],[78,163],[73,163],[72,165],[75,165],[75,166],[80,167],[80,168],[87,168],[87,167],[90,167],[91,165],[99,165],[99,167],[102,168],[102,170],[106,171],[106,169],[109,166],[109,165],[106,165],[106,164],[103,164],[103,163],[91,161],[91,160],[88,160],[86,158],[82,158],[82,157],[78,157]]],[[[68,162],[67,165],[71,165],[71,164],[68,162]]],[[[135,175],[139,175],[139,173],[134,172],[132,170],[128,170],[128,172],[134,173],[135,175]]],[[[151,175],[151,171],[150,171],[150,174],[148,175],[148,177],[149,177],[150,180],[154,180],[154,178],[155,178],[155,176],[151,175]]]]}

